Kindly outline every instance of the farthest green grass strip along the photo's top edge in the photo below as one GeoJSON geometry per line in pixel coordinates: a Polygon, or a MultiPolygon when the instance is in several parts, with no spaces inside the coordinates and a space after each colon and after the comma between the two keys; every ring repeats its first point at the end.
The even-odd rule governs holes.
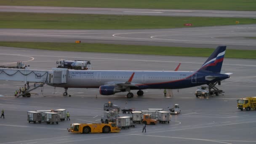
{"type": "Polygon", "coordinates": [[[256,11],[255,0],[0,0],[0,5],[256,11]]]}

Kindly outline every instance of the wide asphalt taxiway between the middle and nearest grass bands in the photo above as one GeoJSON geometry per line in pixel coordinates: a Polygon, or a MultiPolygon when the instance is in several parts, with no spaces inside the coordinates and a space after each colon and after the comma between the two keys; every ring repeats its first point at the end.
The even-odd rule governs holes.
{"type": "Polygon", "coordinates": [[[136,30],[0,29],[2,41],[112,43],[256,50],[256,24],[136,30]]]}

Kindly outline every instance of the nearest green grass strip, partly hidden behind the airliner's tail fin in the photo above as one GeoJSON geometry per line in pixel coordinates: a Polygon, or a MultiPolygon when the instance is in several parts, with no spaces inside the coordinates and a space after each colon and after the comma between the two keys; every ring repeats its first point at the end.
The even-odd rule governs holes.
{"type": "MultiPolygon", "coordinates": [[[[91,43],[39,43],[39,42],[0,42],[0,46],[32,48],[53,51],[82,51],[96,53],[130,53],[167,56],[200,56],[208,57],[214,51],[213,48],[181,48],[163,46],[141,45],[114,45],[91,43]]],[[[226,58],[256,59],[256,51],[227,49],[226,58]]]]}

